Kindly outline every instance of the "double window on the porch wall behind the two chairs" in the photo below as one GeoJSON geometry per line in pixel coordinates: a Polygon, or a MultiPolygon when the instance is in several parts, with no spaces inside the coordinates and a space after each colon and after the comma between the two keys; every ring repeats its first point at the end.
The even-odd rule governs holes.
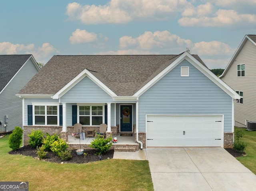
{"type": "Polygon", "coordinates": [[[79,123],[82,125],[100,125],[103,122],[103,106],[79,106],[79,123]]]}

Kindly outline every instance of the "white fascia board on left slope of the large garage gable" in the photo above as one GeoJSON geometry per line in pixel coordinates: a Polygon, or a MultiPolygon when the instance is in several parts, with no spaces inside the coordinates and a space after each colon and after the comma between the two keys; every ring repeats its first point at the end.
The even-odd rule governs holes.
{"type": "Polygon", "coordinates": [[[152,85],[154,85],[156,82],[158,82],[162,77],[164,77],[168,72],[170,72],[176,65],[178,65],[180,62],[184,60],[185,55],[189,54],[188,52],[184,52],[182,55],[180,55],[174,62],[172,62],[170,65],[168,65],[163,71],[161,71],[158,75],[156,75],[152,80],[150,80],[146,85],[144,85],[140,90],[138,90],[133,96],[139,97],[144,92],[146,92],[152,85]]]}

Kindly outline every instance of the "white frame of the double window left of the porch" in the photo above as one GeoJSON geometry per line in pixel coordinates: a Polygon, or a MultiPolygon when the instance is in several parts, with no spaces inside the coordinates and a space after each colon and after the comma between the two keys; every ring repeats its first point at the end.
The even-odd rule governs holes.
{"type": "Polygon", "coordinates": [[[33,110],[33,125],[39,125],[39,126],[60,126],[60,103],[55,103],[55,102],[48,102],[48,103],[32,103],[33,110]],[[44,124],[36,124],[35,121],[35,106],[44,106],[44,124]],[[57,124],[52,125],[52,124],[47,124],[47,116],[56,116],[56,115],[47,115],[47,106],[57,106],[57,124]]]}

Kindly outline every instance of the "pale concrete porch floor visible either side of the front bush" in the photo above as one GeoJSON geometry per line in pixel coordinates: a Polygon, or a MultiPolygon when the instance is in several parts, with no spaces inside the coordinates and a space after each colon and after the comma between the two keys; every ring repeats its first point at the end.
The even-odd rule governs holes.
{"type": "MultiPolygon", "coordinates": [[[[134,135],[133,136],[120,136],[120,134],[115,136],[117,138],[117,143],[112,143],[114,145],[137,145],[138,143],[135,143],[134,135]]],[[[114,138],[114,136],[112,137],[114,138]]],[[[85,137],[84,140],[80,140],[81,144],[90,144],[94,137],[85,137]]],[[[70,144],[79,144],[79,138],[72,137],[72,135],[68,136],[68,142],[70,144]]]]}

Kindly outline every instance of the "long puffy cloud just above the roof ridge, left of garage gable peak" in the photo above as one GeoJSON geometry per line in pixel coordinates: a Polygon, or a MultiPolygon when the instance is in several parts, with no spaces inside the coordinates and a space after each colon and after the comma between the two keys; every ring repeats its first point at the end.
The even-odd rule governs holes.
{"type": "Polygon", "coordinates": [[[143,50],[169,49],[170,47],[176,49],[178,49],[178,47],[182,47],[185,50],[186,47],[192,46],[192,42],[190,40],[182,39],[168,31],[156,31],[154,33],[146,31],[137,38],[123,36],[119,41],[121,48],[130,48],[136,46],[137,48],[143,50]]]}

